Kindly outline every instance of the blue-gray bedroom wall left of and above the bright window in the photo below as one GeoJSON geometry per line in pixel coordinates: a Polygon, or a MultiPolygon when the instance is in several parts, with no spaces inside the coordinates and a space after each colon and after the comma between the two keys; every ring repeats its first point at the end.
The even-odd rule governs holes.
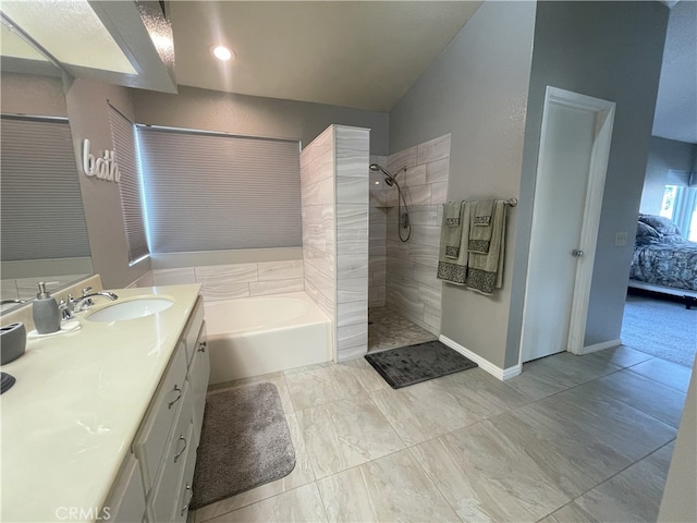
{"type": "Polygon", "coordinates": [[[697,145],[651,136],[639,210],[647,215],[658,215],[663,202],[668,170],[692,171],[695,161],[697,145]]]}

